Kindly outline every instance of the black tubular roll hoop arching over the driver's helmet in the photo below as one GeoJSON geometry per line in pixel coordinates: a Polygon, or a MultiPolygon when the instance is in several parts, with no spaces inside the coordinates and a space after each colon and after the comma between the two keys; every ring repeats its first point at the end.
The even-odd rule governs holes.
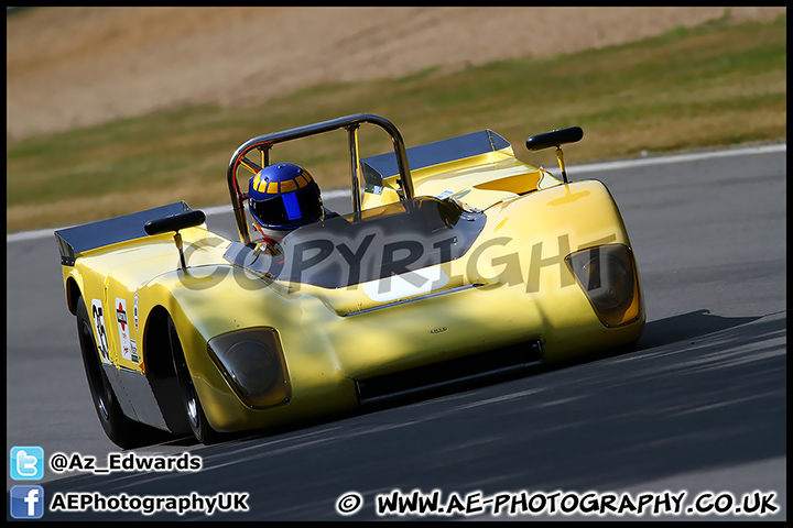
{"type": "Polygon", "coordinates": [[[362,123],[370,123],[380,127],[390,136],[393,143],[394,154],[397,156],[397,165],[399,166],[400,178],[398,179],[400,189],[397,191],[401,200],[413,198],[413,179],[411,177],[410,166],[408,164],[408,154],[405,152],[404,141],[397,127],[391,121],[373,113],[356,113],[344,118],[332,119],[319,123],[297,127],[295,129],[273,132],[270,134],[259,135],[240,145],[231,156],[228,166],[228,186],[231,195],[231,205],[233,207],[235,220],[237,221],[237,230],[239,231],[240,242],[250,244],[250,230],[248,228],[247,217],[245,212],[245,200],[248,193],[242,193],[237,182],[237,169],[242,166],[251,173],[256,174],[263,167],[270,165],[270,148],[276,143],[307,138],[309,135],[322,134],[338,129],[346,129],[349,134],[349,152],[350,152],[350,177],[352,191],[352,211],[360,213],[360,155],[358,152],[358,128],[362,123]],[[246,157],[246,155],[259,150],[261,153],[260,163],[254,163],[246,157]]]}

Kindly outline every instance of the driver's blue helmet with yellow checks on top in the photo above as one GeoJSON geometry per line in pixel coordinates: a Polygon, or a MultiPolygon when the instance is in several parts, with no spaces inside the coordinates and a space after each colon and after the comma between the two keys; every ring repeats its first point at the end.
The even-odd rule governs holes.
{"type": "Polygon", "coordinates": [[[319,186],[293,163],[262,168],[248,184],[251,216],[267,229],[295,229],[323,216],[319,186]]]}

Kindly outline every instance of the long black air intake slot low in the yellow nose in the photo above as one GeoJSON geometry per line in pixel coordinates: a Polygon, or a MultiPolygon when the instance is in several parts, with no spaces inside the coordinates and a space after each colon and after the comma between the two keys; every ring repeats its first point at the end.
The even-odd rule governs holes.
{"type": "Polygon", "coordinates": [[[430,396],[450,388],[460,389],[484,381],[497,381],[528,374],[543,363],[539,341],[489,350],[432,365],[356,382],[362,406],[430,396]]]}

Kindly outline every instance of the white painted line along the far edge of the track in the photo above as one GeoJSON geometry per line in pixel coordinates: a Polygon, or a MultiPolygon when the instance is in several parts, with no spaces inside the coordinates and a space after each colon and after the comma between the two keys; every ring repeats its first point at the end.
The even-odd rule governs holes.
{"type": "MultiPolygon", "coordinates": [[[[692,154],[674,154],[670,156],[658,156],[658,157],[643,157],[639,160],[621,160],[618,162],[604,162],[604,163],[590,163],[586,165],[567,165],[573,173],[596,173],[598,170],[615,170],[620,168],[632,168],[648,165],[666,165],[670,163],[684,163],[697,160],[710,160],[714,157],[728,157],[728,156],[746,156],[752,154],[769,154],[774,152],[786,152],[787,143],[781,143],[775,145],[759,145],[759,146],[747,146],[738,148],[727,148],[724,151],[709,151],[709,152],[697,152],[692,154]]],[[[345,198],[349,196],[349,189],[334,189],[323,193],[323,198],[345,198]]],[[[202,209],[207,217],[213,215],[220,215],[222,212],[229,212],[230,206],[217,206],[207,207],[202,209]]],[[[36,231],[22,231],[19,233],[11,233],[6,235],[6,243],[21,242],[28,240],[44,239],[46,237],[53,237],[53,233],[59,229],[65,228],[50,228],[40,229],[36,231]]]]}

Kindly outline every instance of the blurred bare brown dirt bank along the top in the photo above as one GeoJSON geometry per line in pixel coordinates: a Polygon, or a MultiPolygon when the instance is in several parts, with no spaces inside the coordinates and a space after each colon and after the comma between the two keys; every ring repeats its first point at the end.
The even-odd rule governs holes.
{"type": "Polygon", "coordinates": [[[7,19],[7,133],[624,43],[785,8],[39,8],[7,19]]]}

